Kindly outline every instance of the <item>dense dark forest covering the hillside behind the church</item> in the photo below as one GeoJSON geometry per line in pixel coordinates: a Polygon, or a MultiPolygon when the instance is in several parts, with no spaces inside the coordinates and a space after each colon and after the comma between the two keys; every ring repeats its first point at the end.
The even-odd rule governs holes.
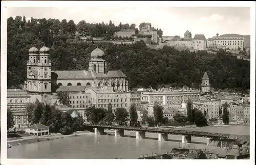
{"type": "MultiPolygon", "coordinates": [[[[104,22],[97,25],[80,21],[76,28],[84,36],[105,34],[114,38],[119,27],[111,21],[108,25],[103,24],[104,22]]],[[[31,44],[38,49],[43,44],[51,48],[52,70],[88,69],[90,53],[96,45],[76,39],[73,25],[72,21],[67,20],[31,18],[26,23],[23,17],[8,18],[8,88],[18,88],[26,80],[26,64],[31,44]]],[[[250,88],[250,62],[236,59],[224,50],[218,51],[216,55],[206,51],[178,51],[168,46],[156,50],[147,48],[143,41],[121,45],[99,43],[98,46],[105,52],[107,70],[122,70],[129,77],[130,88],[138,85],[143,88],[169,85],[199,89],[204,71],[207,71],[211,86],[217,90],[247,92],[250,88]]]]}

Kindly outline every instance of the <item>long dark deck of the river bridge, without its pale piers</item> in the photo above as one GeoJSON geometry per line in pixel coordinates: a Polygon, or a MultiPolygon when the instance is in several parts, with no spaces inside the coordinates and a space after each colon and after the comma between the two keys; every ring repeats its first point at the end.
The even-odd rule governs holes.
{"type": "Polygon", "coordinates": [[[85,126],[96,127],[96,128],[109,128],[109,129],[123,129],[130,131],[145,131],[153,133],[167,133],[177,135],[191,135],[198,137],[210,137],[210,138],[224,138],[230,140],[240,139],[243,135],[225,134],[225,133],[212,133],[212,132],[200,132],[200,131],[189,131],[189,130],[177,130],[177,129],[163,129],[163,128],[142,128],[142,127],[131,127],[131,126],[119,126],[119,125],[101,125],[101,124],[85,124],[85,126]]]}

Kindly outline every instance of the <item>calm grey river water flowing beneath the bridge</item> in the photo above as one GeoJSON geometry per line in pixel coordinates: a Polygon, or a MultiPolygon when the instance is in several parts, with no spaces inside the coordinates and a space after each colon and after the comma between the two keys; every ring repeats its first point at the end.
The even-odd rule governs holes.
{"type": "MultiPolygon", "coordinates": [[[[189,128],[185,128],[189,129],[189,128]]],[[[195,128],[190,128],[195,130],[195,128]]],[[[196,130],[218,133],[249,134],[249,126],[205,127],[196,130]]],[[[7,150],[8,158],[68,158],[68,159],[134,159],[141,154],[170,152],[172,148],[188,146],[205,148],[206,139],[192,137],[191,144],[182,144],[180,135],[168,135],[168,141],[158,142],[157,133],[146,133],[146,139],[136,140],[135,132],[124,131],[124,137],[89,135],[53,141],[13,146],[7,150]]]]}

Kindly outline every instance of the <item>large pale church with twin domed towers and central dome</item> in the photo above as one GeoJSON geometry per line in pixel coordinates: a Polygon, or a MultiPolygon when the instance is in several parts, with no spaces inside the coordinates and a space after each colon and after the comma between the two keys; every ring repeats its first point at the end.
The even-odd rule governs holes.
{"type": "Polygon", "coordinates": [[[27,62],[27,81],[24,89],[31,95],[31,101],[38,99],[48,102],[55,91],[51,85],[58,85],[58,91],[70,92],[71,89],[108,89],[111,92],[128,92],[126,75],[120,70],[106,70],[104,52],[98,47],[91,52],[88,70],[51,70],[50,49],[46,46],[29,49],[27,62]],[[67,90],[69,89],[69,90],[67,90]]]}

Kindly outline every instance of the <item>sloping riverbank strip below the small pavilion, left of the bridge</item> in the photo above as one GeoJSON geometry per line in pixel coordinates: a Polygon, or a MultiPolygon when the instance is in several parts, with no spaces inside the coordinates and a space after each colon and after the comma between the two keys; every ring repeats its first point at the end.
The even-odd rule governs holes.
{"type": "Polygon", "coordinates": [[[40,136],[40,137],[29,136],[24,139],[7,141],[7,145],[10,144],[11,146],[18,146],[18,145],[24,145],[24,144],[52,141],[52,140],[57,140],[57,139],[65,139],[68,137],[89,136],[89,135],[93,135],[93,134],[94,133],[90,132],[90,131],[77,131],[77,132],[74,132],[73,134],[69,134],[69,135],[62,135],[60,133],[52,133],[52,134],[40,136]]]}

